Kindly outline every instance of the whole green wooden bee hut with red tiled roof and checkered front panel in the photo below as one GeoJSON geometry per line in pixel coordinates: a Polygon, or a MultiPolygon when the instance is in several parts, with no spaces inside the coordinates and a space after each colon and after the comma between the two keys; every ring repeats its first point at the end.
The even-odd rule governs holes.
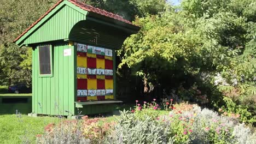
{"type": "Polygon", "coordinates": [[[32,47],[33,115],[110,111],[117,100],[115,50],[138,26],[119,15],[61,0],[15,43],[32,47]]]}

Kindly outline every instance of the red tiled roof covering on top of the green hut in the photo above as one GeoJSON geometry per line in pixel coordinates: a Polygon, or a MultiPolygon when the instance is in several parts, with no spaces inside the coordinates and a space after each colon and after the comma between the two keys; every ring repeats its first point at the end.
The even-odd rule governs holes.
{"type": "MultiPolygon", "coordinates": [[[[40,17],[36,22],[34,22],[30,27],[28,27],[26,29],[26,31],[24,31],[21,35],[19,35],[18,38],[16,38],[14,40],[17,41],[19,40],[24,34],[26,34],[32,27],[34,27],[40,20],[42,20],[46,15],[48,15],[54,8],[57,7],[57,5],[59,5],[63,0],[60,0],[59,2],[57,2],[53,8],[49,9],[48,11],[46,11],[46,13],[40,17]]],[[[103,16],[106,16],[106,17],[110,17],[112,19],[115,19],[115,20],[118,20],[118,21],[122,21],[122,22],[125,22],[125,23],[128,23],[130,25],[133,25],[129,20],[125,20],[123,17],[119,16],[119,15],[116,15],[116,14],[113,14],[113,13],[109,13],[108,11],[105,11],[105,10],[102,10],[102,9],[99,9],[99,8],[95,8],[95,7],[92,7],[91,5],[88,5],[88,4],[84,4],[84,3],[80,3],[80,2],[77,2],[75,0],[68,0],[69,2],[73,3],[74,5],[76,5],[77,7],[83,9],[83,10],[86,10],[88,12],[92,12],[92,13],[96,13],[96,14],[99,14],[99,15],[103,15],[103,16]]],[[[136,25],[133,25],[133,26],[136,26],[136,25]]]]}

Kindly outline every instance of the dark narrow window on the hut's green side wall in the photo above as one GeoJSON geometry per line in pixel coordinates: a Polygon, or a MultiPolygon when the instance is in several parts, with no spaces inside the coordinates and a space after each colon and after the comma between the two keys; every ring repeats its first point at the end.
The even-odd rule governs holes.
{"type": "Polygon", "coordinates": [[[50,46],[39,46],[40,75],[51,74],[50,46]]]}

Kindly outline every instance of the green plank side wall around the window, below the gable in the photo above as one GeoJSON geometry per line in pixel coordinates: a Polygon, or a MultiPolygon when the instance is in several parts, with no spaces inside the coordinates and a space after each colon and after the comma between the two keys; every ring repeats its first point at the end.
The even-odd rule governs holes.
{"type": "Polygon", "coordinates": [[[52,47],[52,77],[39,77],[38,48],[32,53],[32,112],[45,115],[74,115],[75,73],[74,46],[55,44],[52,47]],[[63,50],[71,49],[71,56],[63,50]]]}

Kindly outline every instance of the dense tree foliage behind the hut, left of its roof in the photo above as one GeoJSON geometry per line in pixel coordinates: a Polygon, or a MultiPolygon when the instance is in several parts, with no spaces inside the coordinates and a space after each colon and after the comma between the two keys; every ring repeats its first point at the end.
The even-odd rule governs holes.
{"type": "Polygon", "coordinates": [[[32,50],[13,43],[27,27],[57,0],[3,0],[0,10],[0,83],[22,82],[31,85],[32,50]]]}

